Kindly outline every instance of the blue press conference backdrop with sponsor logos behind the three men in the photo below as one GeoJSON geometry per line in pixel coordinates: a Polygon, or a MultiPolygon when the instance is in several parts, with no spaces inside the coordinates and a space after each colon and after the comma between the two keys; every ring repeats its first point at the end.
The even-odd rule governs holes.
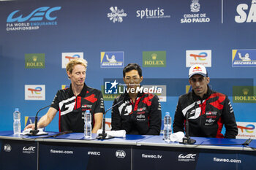
{"type": "MultiPolygon", "coordinates": [[[[86,58],[86,84],[102,90],[105,108],[124,90],[124,66],[138,63],[171,117],[191,90],[189,67],[203,64],[230,98],[239,137],[255,137],[255,0],[0,1],[0,23],[0,131],[12,130],[15,107],[24,128],[69,87],[65,64],[86,58]]],[[[58,119],[46,130],[59,131],[58,119]]]]}

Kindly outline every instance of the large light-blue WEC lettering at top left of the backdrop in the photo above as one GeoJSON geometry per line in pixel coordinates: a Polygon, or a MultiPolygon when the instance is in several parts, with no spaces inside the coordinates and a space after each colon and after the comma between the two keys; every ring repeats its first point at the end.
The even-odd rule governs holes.
{"type": "Polygon", "coordinates": [[[15,15],[20,11],[20,10],[15,10],[14,12],[10,13],[10,15],[7,18],[7,23],[14,23],[14,22],[25,22],[27,20],[29,21],[40,21],[44,17],[47,20],[56,20],[57,17],[50,16],[51,12],[58,11],[60,10],[61,7],[39,7],[37,9],[34,9],[33,12],[31,12],[29,15],[26,17],[23,17],[23,15],[16,16],[15,15]]]}

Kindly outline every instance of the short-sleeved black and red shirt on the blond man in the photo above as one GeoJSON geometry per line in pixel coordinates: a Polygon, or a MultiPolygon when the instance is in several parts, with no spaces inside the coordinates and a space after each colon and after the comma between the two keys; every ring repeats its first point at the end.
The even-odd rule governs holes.
{"type": "Polygon", "coordinates": [[[51,107],[59,110],[59,131],[84,131],[84,112],[91,112],[91,127],[94,127],[94,113],[105,112],[102,92],[86,84],[78,96],[69,88],[58,90],[51,107]]]}

